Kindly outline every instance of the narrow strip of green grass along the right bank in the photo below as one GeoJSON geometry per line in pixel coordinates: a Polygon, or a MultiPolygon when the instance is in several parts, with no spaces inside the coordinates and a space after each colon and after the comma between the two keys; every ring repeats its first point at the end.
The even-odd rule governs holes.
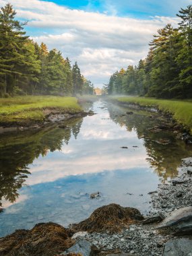
{"type": "Polygon", "coordinates": [[[192,134],[192,100],[158,100],[129,96],[113,97],[113,99],[123,103],[139,104],[140,106],[155,106],[172,114],[172,117],[189,129],[192,134]]]}

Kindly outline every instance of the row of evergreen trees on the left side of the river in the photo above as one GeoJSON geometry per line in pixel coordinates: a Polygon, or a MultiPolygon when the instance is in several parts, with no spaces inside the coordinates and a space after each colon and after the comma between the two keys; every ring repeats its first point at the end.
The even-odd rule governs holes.
{"type": "Polygon", "coordinates": [[[60,51],[26,36],[11,4],[0,9],[0,96],[93,94],[94,86],[60,51]]]}

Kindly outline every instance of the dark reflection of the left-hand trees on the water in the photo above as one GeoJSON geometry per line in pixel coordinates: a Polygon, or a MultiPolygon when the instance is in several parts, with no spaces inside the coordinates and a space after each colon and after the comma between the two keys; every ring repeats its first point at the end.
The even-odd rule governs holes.
{"type": "MultiPolygon", "coordinates": [[[[39,156],[61,150],[74,135],[75,139],[82,125],[82,119],[71,119],[66,123],[69,129],[48,127],[41,131],[3,134],[0,138],[0,205],[1,201],[15,202],[18,190],[24,186],[31,174],[29,164],[39,156]]],[[[5,207],[3,205],[3,207],[5,207]]]]}

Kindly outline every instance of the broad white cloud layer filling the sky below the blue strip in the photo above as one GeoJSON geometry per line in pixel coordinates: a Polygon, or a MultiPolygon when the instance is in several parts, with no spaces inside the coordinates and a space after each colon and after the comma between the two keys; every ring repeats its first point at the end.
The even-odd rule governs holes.
{"type": "Polygon", "coordinates": [[[106,83],[117,69],[146,57],[148,42],[158,28],[168,22],[177,24],[177,18],[168,17],[121,18],[115,15],[115,9],[110,10],[113,15],[106,15],[40,0],[0,0],[1,5],[7,2],[15,7],[20,19],[28,19],[30,28],[41,32],[34,40],[77,61],[82,73],[96,86],[106,83]]]}

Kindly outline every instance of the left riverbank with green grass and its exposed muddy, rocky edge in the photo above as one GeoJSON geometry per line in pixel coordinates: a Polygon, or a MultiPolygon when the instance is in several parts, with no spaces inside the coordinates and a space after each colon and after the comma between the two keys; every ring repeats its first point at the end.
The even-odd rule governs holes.
{"type": "Polygon", "coordinates": [[[0,129],[40,127],[86,113],[75,97],[21,96],[0,99],[0,129]]]}

